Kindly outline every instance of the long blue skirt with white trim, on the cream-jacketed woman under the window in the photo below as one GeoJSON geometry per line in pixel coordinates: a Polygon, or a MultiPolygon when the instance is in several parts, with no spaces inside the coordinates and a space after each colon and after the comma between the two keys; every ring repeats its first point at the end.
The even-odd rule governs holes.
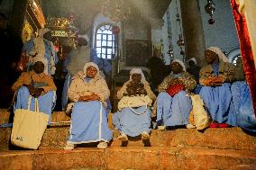
{"type": "Polygon", "coordinates": [[[71,120],[68,143],[109,142],[113,137],[108,129],[107,111],[99,101],[75,103],[71,120]]]}

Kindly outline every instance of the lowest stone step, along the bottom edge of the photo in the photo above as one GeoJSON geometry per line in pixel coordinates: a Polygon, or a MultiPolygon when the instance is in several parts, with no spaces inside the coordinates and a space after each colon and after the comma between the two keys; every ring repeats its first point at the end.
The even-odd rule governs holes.
{"type": "Polygon", "coordinates": [[[0,169],[256,169],[255,150],[110,147],[0,152],[0,169]]]}

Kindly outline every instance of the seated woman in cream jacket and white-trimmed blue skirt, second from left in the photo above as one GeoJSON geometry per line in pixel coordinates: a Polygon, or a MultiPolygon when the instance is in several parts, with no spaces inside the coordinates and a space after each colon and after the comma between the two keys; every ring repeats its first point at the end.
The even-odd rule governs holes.
{"type": "Polygon", "coordinates": [[[105,108],[110,92],[95,63],[88,62],[84,72],[73,77],[68,94],[74,105],[69,139],[64,149],[70,150],[74,144],[90,142],[99,142],[97,148],[107,148],[107,142],[113,136],[108,129],[105,108]]]}

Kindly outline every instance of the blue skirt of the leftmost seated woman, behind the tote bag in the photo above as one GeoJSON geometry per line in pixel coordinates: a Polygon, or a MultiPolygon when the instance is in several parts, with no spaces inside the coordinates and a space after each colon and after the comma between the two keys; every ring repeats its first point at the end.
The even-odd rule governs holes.
{"type": "MultiPolygon", "coordinates": [[[[21,86],[17,91],[17,99],[14,103],[14,112],[16,109],[30,109],[34,111],[35,103],[34,97],[32,97],[31,108],[28,108],[30,92],[29,89],[25,86],[21,86]]],[[[43,94],[38,97],[39,103],[39,112],[43,112],[49,115],[48,125],[50,125],[51,121],[51,112],[55,107],[56,102],[56,93],[54,91],[50,91],[47,94],[43,94]]]]}

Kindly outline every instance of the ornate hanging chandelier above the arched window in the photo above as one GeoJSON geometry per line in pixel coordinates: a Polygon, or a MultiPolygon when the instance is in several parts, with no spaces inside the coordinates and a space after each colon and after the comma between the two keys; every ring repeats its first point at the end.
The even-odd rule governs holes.
{"type": "Polygon", "coordinates": [[[129,5],[123,0],[104,0],[102,14],[113,22],[126,20],[131,13],[129,5]]]}

